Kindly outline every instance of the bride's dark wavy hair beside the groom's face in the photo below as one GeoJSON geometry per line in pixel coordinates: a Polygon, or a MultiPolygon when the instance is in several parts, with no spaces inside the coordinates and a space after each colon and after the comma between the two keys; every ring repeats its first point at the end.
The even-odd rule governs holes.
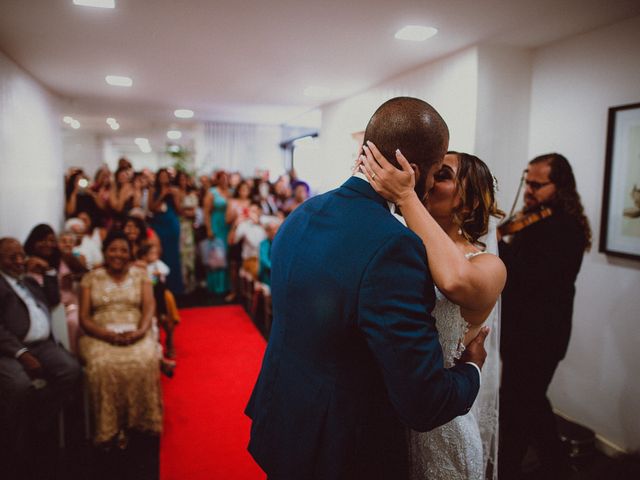
{"type": "Polygon", "coordinates": [[[495,196],[495,178],[486,163],[474,155],[447,152],[458,157],[456,193],[460,204],[453,210],[453,219],[462,235],[474,245],[485,245],[479,240],[489,230],[489,218],[503,218],[495,196]]]}

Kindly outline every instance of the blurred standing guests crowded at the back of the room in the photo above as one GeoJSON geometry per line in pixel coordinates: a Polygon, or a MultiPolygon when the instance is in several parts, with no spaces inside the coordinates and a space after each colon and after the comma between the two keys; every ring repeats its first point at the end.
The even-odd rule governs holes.
{"type": "Polygon", "coordinates": [[[76,236],[75,251],[90,269],[100,264],[107,231],[138,230],[139,236],[129,234],[134,256],[142,243],[152,243],[168,267],[165,282],[174,295],[206,286],[233,301],[241,267],[256,279],[268,277],[259,268],[268,263],[259,259],[260,243],[309,194],[293,172],[273,183],[221,170],[196,179],[172,169],[136,172],[123,158],[115,173],[102,167],[93,181],[80,169],[69,171],[65,231],[76,236]]]}

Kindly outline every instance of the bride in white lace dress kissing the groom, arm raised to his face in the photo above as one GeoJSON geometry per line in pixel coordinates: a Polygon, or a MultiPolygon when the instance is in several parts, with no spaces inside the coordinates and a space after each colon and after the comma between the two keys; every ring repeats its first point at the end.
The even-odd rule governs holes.
{"type": "Polygon", "coordinates": [[[495,227],[504,214],[496,205],[494,177],[479,158],[449,152],[423,204],[413,189],[413,168],[399,150],[396,157],[402,170],[373,143],[363,149],[360,170],[379,194],[401,210],[428,252],[437,287],[433,316],[445,367],[454,365],[483,325],[492,330],[480,392],[471,411],[430,432],[409,432],[411,478],[495,479],[500,376],[496,302],[506,269],[497,256],[495,227]]]}

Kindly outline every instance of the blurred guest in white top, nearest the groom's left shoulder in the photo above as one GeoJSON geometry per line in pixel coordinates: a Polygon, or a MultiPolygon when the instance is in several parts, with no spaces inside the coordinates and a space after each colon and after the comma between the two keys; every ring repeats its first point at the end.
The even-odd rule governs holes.
{"type": "Polygon", "coordinates": [[[257,203],[251,203],[247,216],[239,216],[229,232],[229,245],[241,245],[242,268],[247,271],[254,280],[258,279],[258,250],[260,242],[267,234],[260,224],[262,209],[257,203]]]}

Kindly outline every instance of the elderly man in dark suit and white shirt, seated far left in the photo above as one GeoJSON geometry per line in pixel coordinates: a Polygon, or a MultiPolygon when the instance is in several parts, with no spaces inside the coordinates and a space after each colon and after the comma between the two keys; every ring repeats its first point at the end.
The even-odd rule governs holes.
{"type": "Polygon", "coordinates": [[[78,362],[51,333],[50,309],[59,302],[55,270],[39,258],[27,261],[20,242],[1,238],[0,455],[8,478],[29,478],[30,464],[49,453],[43,439],[80,377],[78,362]],[[43,274],[42,285],[25,275],[27,266],[43,274]]]}

